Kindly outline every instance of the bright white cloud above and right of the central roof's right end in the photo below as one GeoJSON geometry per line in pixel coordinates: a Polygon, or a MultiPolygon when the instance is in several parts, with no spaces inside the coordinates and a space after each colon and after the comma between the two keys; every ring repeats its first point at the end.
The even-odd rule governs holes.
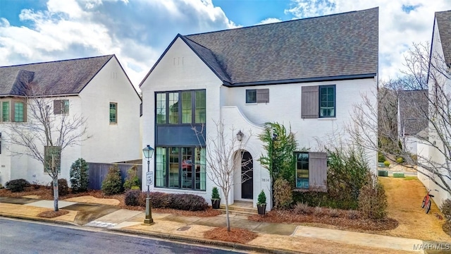
{"type": "Polygon", "coordinates": [[[379,7],[379,75],[395,78],[412,43],[431,41],[435,11],[451,9],[449,0],[292,0],[285,13],[297,18],[379,7]],[[404,11],[403,11],[404,8],[404,11]]]}

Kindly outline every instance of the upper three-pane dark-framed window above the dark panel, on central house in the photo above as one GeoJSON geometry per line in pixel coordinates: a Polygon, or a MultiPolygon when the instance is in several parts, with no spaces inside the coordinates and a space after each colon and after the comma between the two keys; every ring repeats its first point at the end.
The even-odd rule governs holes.
{"type": "Polygon", "coordinates": [[[155,104],[157,124],[205,123],[205,90],[157,92],[155,104]]]}

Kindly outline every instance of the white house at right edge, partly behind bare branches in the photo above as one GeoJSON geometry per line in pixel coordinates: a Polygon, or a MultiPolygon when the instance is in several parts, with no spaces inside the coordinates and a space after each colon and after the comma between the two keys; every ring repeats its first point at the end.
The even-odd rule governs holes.
{"type": "Polygon", "coordinates": [[[433,200],[439,206],[443,200],[451,198],[448,191],[440,188],[438,184],[431,180],[435,179],[442,186],[451,186],[450,67],[451,11],[439,11],[435,12],[428,70],[429,114],[431,115],[428,122],[428,142],[418,145],[419,157],[424,158],[426,167],[430,166],[437,169],[437,173],[442,174],[445,180],[443,181],[436,174],[431,174],[425,169],[419,168],[419,171],[424,172],[424,174],[418,173],[418,177],[424,183],[424,186],[428,189],[438,190],[438,192],[433,191],[431,194],[434,195],[433,200]],[[438,134],[443,135],[443,138],[438,138],[438,134]]]}

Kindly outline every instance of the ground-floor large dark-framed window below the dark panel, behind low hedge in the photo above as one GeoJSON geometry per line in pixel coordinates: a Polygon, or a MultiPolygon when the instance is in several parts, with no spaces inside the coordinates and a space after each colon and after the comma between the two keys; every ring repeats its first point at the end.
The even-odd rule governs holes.
{"type": "Polygon", "coordinates": [[[156,147],[155,186],[205,191],[205,149],[156,147]]]}

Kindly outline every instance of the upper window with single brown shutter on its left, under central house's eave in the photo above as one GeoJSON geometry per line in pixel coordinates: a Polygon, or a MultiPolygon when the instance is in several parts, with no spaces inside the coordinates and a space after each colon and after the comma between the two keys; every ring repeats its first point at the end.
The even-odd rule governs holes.
{"type": "Polygon", "coordinates": [[[335,85],[303,86],[301,98],[302,118],[334,118],[336,116],[335,94],[335,85]]]}

